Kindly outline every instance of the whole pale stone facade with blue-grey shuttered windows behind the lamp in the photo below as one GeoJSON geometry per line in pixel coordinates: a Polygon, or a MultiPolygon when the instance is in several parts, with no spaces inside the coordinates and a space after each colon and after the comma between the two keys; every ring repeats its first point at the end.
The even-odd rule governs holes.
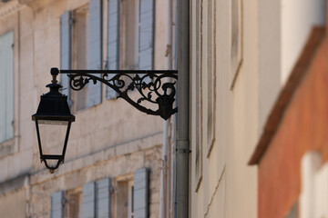
{"type": "MultiPolygon", "coordinates": [[[[12,75],[6,82],[12,85],[5,86],[5,92],[13,95],[12,102],[1,95],[9,105],[1,111],[1,126],[11,130],[2,135],[0,142],[0,213],[5,217],[159,216],[163,142],[160,117],[142,114],[124,100],[108,96],[105,86],[96,84],[94,91],[88,84],[81,93],[70,91],[66,78],[61,76],[63,93],[69,96],[76,122],[71,127],[65,163],[54,174],[40,163],[36,127],[31,121],[39,96],[47,92],[51,67],[166,69],[167,24],[162,9],[167,2],[130,2],[1,1],[0,46],[4,46],[0,50],[9,52],[0,53],[6,58],[1,58],[1,64],[7,67],[1,66],[0,72],[2,77],[12,75]],[[113,6],[115,3],[119,7],[113,6]],[[67,13],[71,15],[67,20],[71,29],[65,35],[67,13]],[[145,13],[150,13],[147,20],[152,23],[140,24],[145,13]],[[113,14],[120,23],[108,19],[113,14]],[[94,16],[99,20],[92,20],[94,16]],[[101,24],[98,29],[97,24],[101,24]],[[139,25],[149,25],[151,37],[142,35],[139,25]],[[108,40],[113,31],[119,35],[114,45],[108,40]],[[65,44],[67,38],[70,45],[65,44]],[[91,46],[94,39],[100,45],[96,51],[91,46]],[[146,64],[140,62],[142,44],[150,50],[150,62],[146,64]],[[108,49],[113,46],[117,47],[116,59],[109,54],[115,50],[108,49]],[[89,67],[95,56],[101,57],[96,60],[98,65],[89,67]],[[96,98],[97,102],[90,104],[96,98]]],[[[54,143],[55,134],[47,133],[44,144],[54,143]]]]}

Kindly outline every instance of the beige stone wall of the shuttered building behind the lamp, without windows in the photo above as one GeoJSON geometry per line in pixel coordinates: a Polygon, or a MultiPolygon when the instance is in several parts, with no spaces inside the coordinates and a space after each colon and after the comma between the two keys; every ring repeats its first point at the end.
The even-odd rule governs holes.
{"type": "MultiPolygon", "coordinates": [[[[24,192],[0,193],[0,201],[4,202],[1,213],[13,211],[19,204],[17,211],[6,217],[49,217],[51,193],[106,177],[112,177],[115,185],[122,176],[133,178],[133,172],[142,167],[150,169],[150,217],[159,215],[163,121],[142,114],[122,99],[107,100],[105,89],[101,104],[75,113],[66,162],[55,174],[48,173],[40,163],[31,115],[36,112],[39,95],[47,92],[50,68],[60,65],[59,18],[67,10],[87,3],[11,0],[0,5],[0,35],[15,31],[15,138],[9,142],[10,154],[0,156],[0,184],[12,186],[21,175],[30,178],[24,192]]],[[[156,4],[156,69],[165,69],[165,7],[165,1],[156,4]]],[[[0,144],[0,148],[7,144],[0,144]]]]}

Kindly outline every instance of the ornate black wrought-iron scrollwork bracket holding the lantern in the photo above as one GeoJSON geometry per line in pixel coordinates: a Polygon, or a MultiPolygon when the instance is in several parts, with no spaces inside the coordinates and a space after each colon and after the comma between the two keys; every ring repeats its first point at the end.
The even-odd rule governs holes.
{"type": "Polygon", "coordinates": [[[86,84],[106,84],[139,111],[159,115],[164,120],[178,112],[174,104],[178,71],[175,70],[57,70],[67,74],[75,90],[86,84]],[[99,76],[100,75],[100,76],[99,76]]]}

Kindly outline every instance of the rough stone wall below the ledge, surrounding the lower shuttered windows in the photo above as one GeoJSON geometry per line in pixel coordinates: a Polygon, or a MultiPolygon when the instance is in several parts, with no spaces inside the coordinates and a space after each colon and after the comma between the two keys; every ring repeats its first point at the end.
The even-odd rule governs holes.
{"type": "MultiPolygon", "coordinates": [[[[142,167],[149,167],[151,172],[149,177],[149,217],[158,217],[161,145],[143,147],[143,145],[140,145],[143,143],[139,142],[138,144],[143,149],[137,148],[132,152],[125,151],[106,158],[99,157],[104,156],[104,153],[80,158],[75,163],[67,163],[68,169],[62,167],[55,175],[50,175],[46,170],[36,173],[31,177],[29,215],[32,217],[50,217],[51,193],[75,189],[82,187],[85,183],[107,177],[111,177],[113,180],[114,193],[112,194],[112,200],[115,203],[114,199],[118,193],[118,180],[122,176],[131,178],[131,174],[133,175],[134,171],[142,167]],[[86,167],[75,167],[77,165],[83,165],[83,163],[89,164],[86,167]]],[[[125,144],[120,147],[132,147],[130,145],[125,144]]],[[[114,149],[112,149],[112,152],[114,152],[114,149]]],[[[111,153],[111,151],[108,151],[108,153],[111,153]]],[[[112,210],[113,217],[118,217],[114,205],[112,206],[112,210]]]]}

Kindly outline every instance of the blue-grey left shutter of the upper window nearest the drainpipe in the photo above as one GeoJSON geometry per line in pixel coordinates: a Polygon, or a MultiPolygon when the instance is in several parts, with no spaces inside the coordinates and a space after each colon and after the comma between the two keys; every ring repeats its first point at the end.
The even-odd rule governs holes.
{"type": "MultiPolygon", "coordinates": [[[[108,70],[118,70],[119,65],[119,0],[108,0],[108,70]]],[[[108,74],[108,79],[113,74],[108,74]]],[[[110,87],[106,87],[106,97],[108,99],[118,96],[110,87]]]]}

